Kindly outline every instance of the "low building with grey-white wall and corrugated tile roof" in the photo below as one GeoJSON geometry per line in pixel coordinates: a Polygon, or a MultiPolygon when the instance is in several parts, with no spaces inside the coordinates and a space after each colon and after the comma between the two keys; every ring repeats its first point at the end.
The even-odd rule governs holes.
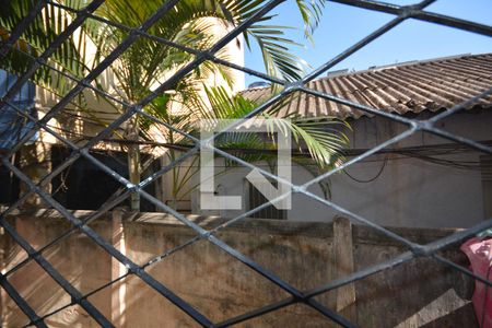
{"type": "MultiPolygon", "coordinates": [[[[308,87],[354,103],[405,117],[426,119],[449,109],[492,86],[492,54],[456,56],[339,72],[315,80],[308,87]]],[[[268,87],[243,92],[248,98],[263,99],[268,87]]],[[[438,121],[446,131],[492,144],[492,96],[438,121]]],[[[349,154],[359,154],[402,132],[408,127],[383,117],[301,95],[282,109],[304,117],[336,116],[347,119],[352,131],[349,154]]],[[[349,155],[348,159],[351,156],[349,155]]],[[[218,194],[244,195],[243,211],[203,212],[198,192],[192,212],[235,216],[258,201],[245,175],[237,168],[215,179],[218,194]]],[[[293,181],[303,184],[312,176],[293,168],[293,181]]],[[[368,220],[389,226],[466,227],[492,218],[492,157],[436,136],[418,132],[331,177],[331,201],[368,220]]],[[[323,196],[321,189],[313,188],[323,196]]],[[[337,211],[302,195],[293,196],[292,210],[270,209],[262,215],[298,221],[330,221],[337,211]]]]}

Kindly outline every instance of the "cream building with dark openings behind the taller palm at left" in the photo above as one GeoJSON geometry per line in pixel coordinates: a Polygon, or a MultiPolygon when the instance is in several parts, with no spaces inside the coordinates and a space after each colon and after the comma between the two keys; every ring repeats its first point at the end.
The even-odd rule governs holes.
{"type": "MultiPolygon", "coordinates": [[[[232,26],[227,27],[224,25],[225,23],[214,17],[202,20],[203,22],[207,22],[207,24],[213,26],[213,36],[215,39],[220,39],[232,28],[232,26]]],[[[74,37],[80,36],[75,33],[74,37]]],[[[87,67],[92,67],[93,62],[91,62],[91,60],[93,60],[95,56],[96,48],[90,40],[84,42],[86,42],[86,65],[87,67]]],[[[236,65],[243,65],[243,42],[239,37],[236,42],[227,44],[224,47],[222,55],[234,58],[236,65]]],[[[105,92],[120,98],[117,90],[116,75],[112,71],[115,69],[118,69],[117,60],[109,69],[106,69],[98,77],[97,81],[105,92]]],[[[159,79],[156,78],[156,80],[162,82],[173,73],[173,71],[165,72],[164,77],[157,77],[159,79]]],[[[56,73],[54,73],[52,78],[55,80],[61,79],[62,83],[67,86],[67,91],[75,85],[74,81],[65,77],[60,78],[56,73]]],[[[230,79],[232,84],[229,84],[221,73],[210,73],[207,75],[207,80],[204,80],[203,83],[207,85],[223,85],[231,92],[238,92],[244,89],[243,72],[231,70],[230,79]]],[[[0,70],[0,96],[3,96],[7,93],[10,87],[9,85],[12,85],[15,80],[15,75],[8,74],[5,71],[0,70]]],[[[157,84],[157,82],[155,84],[157,84]]],[[[157,85],[153,86],[156,87],[157,85]]],[[[23,96],[24,93],[26,93],[24,89],[27,87],[30,92],[30,103],[26,105],[24,104],[26,103],[26,99],[23,99],[24,103],[21,104],[17,102],[17,106],[39,118],[43,118],[44,115],[46,115],[46,113],[48,113],[61,98],[50,90],[34,86],[34,84],[31,83],[23,87],[23,91],[20,95],[16,95],[16,98],[23,96]]],[[[104,96],[99,95],[96,97],[90,90],[85,90],[83,95],[85,102],[83,104],[84,106],[78,106],[75,102],[73,102],[48,122],[49,128],[78,145],[83,145],[91,137],[96,136],[122,113],[122,108],[117,108],[118,106],[110,104],[109,101],[104,101],[104,96]]],[[[172,108],[169,109],[179,113],[179,103],[173,103],[172,108]]],[[[5,113],[0,116],[0,149],[9,149],[15,144],[14,140],[20,139],[19,131],[24,133],[32,126],[28,120],[20,117],[13,109],[8,110],[8,107],[5,107],[5,110],[10,116],[7,117],[5,113]],[[13,122],[15,122],[15,128],[10,127],[13,122]]],[[[125,142],[126,133],[126,124],[124,124],[109,137],[109,139],[112,140],[112,142],[108,142],[106,140],[105,142],[99,142],[92,150],[93,155],[101,162],[122,176],[128,177],[128,143],[125,142]],[[118,142],[119,140],[121,142],[118,142]]],[[[162,130],[160,130],[156,125],[150,128],[149,133],[154,141],[166,142],[162,130]]],[[[14,161],[16,161],[16,165],[21,167],[27,176],[37,183],[43,176],[55,169],[70,156],[72,150],[43,129],[36,133],[35,137],[36,142],[23,147],[21,151],[15,154],[14,161]]],[[[159,160],[165,152],[165,148],[156,149],[154,147],[141,144],[140,151],[142,153],[142,162],[151,163],[152,161],[148,160],[159,160]]],[[[159,163],[160,161],[154,161],[143,175],[156,171],[160,165],[159,163]]],[[[23,194],[22,188],[24,187],[25,186],[20,184],[15,176],[0,165],[0,204],[12,203],[15,201],[19,196],[23,194]]],[[[104,203],[119,187],[120,184],[105,174],[102,169],[94,166],[87,160],[80,159],[70,165],[63,173],[55,177],[52,183],[49,184],[46,189],[54,195],[57,201],[69,209],[93,210],[104,203]]],[[[163,186],[156,183],[145,190],[151,195],[160,197],[160,195],[164,192],[162,188],[163,186]]],[[[37,196],[33,196],[26,203],[31,206],[45,206],[37,196]]],[[[141,210],[151,211],[154,210],[154,207],[142,200],[141,210]]]]}

